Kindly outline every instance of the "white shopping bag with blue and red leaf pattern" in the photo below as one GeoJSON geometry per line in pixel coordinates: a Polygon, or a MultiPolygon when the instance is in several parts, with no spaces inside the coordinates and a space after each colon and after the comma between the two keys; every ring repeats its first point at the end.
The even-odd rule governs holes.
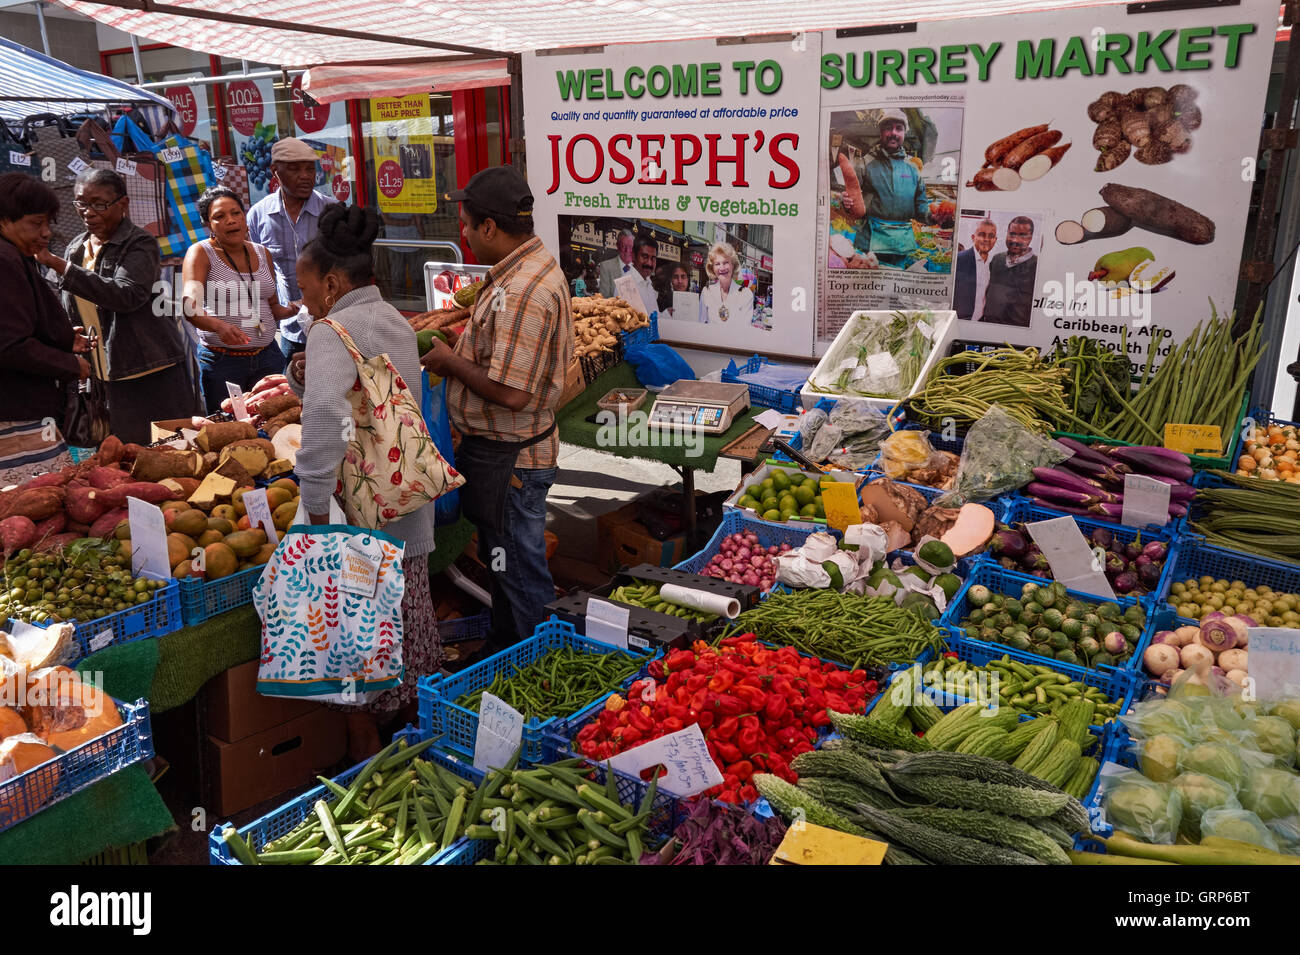
{"type": "Polygon", "coordinates": [[[291,526],[252,591],[261,617],[257,693],[360,704],[402,682],[403,548],[342,522],[291,526]]]}

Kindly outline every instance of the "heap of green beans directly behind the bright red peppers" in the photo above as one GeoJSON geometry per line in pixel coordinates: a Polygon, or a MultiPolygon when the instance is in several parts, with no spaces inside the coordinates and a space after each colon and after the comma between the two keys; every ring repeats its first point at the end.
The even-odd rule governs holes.
{"type": "Polygon", "coordinates": [[[911,663],[926,648],[944,646],[944,633],[890,596],[857,596],[835,590],[772,594],[736,618],[760,641],[789,644],[853,669],[911,663]]]}

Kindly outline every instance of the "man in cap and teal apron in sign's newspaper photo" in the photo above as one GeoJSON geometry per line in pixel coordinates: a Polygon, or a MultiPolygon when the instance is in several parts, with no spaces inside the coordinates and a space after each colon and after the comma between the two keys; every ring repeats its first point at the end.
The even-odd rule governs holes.
{"type": "Polygon", "coordinates": [[[850,269],[906,269],[916,251],[911,222],[930,222],[920,166],[902,146],[907,117],[901,109],[885,109],[879,131],[880,142],[867,152],[870,159],[852,164],[859,188],[845,191],[844,213],[859,220],[853,243],[858,255],[845,262],[850,269]]]}

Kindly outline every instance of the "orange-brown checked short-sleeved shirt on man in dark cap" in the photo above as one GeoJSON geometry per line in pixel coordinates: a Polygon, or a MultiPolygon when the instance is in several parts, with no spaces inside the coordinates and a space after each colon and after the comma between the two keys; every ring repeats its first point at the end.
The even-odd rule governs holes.
{"type": "MultiPolygon", "coordinates": [[[[488,270],[456,355],[488,369],[494,382],[530,398],[511,411],[447,379],[447,411],[462,434],[526,440],[555,421],[564,372],[573,360],[573,313],[559,264],[533,236],[488,270]]],[[[524,448],[517,468],[554,468],[559,435],[524,448]]]]}

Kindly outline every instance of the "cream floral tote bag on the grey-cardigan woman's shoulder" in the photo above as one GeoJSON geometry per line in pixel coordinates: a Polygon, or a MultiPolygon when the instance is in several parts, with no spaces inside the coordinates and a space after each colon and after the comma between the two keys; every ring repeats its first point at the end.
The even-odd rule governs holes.
{"type": "Polygon", "coordinates": [[[312,322],[308,334],[329,326],[356,364],[354,435],[339,465],[338,496],[351,524],[382,528],[419,511],[465,482],[443,460],[429,437],[411,388],[387,355],[365,359],[347,330],[329,318],[312,322]]]}

